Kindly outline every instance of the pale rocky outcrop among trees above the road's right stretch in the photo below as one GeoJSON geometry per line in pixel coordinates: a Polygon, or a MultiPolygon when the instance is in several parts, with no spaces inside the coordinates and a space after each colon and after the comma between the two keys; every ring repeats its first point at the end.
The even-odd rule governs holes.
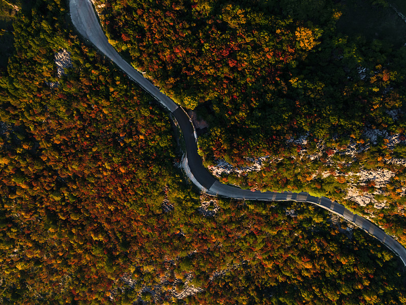
{"type": "MultiPolygon", "coordinates": [[[[400,109],[390,110],[390,115],[393,119],[397,119],[400,114],[400,109]]],[[[385,195],[385,192],[380,190],[387,187],[391,180],[395,177],[395,173],[386,168],[378,168],[375,170],[368,170],[361,166],[356,171],[345,171],[342,172],[338,165],[349,167],[354,162],[357,162],[357,157],[359,154],[370,149],[372,145],[377,145],[381,143],[386,145],[388,149],[394,149],[398,145],[406,145],[405,138],[399,134],[390,135],[386,130],[377,130],[366,128],[362,135],[362,139],[354,140],[352,139],[347,147],[328,147],[324,141],[318,141],[316,143],[316,149],[313,149],[312,153],[308,153],[307,144],[309,142],[310,134],[304,134],[296,139],[290,138],[286,141],[287,145],[295,145],[298,150],[299,159],[308,159],[311,161],[320,161],[323,157],[325,160],[323,163],[328,170],[323,172],[315,172],[310,177],[315,179],[318,177],[327,178],[330,175],[333,176],[343,176],[349,188],[345,190],[346,196],[344,199],[351,200],[360,206],[366,206],[368,204],[373,204],[375,208],[381,209],[386,206],[387,200],[377,200],[375,195],[385,195]],[[327,158],[326,158],[327,153],[327,158]],[[346,162],[334,161],[334,155],[339,154],[340,156],[348,157],[346,162]],[[334,169],[334,167],[336,169],[334,169]],[[360,189],[363,186],[373,186],[375,188],[374,192],[367,193],[360,189]]],[[[339,140],[339,136],[333,137],[334,140],[339,140]]],[[[313,139],[312,139],[313,140],[313,139]]],[[[249,172],[260,171],[265,164],[271,162],[277,162],[280,159],[272,158],[270,156],[264,156],[260,158],[247,158],[247,161],[251,162],[250,166],[233,166],[223,159],[215,161],[215,165],[208,166],[209,170],[213,175],[220,177],[222,175],[234,174],[237,176],[246,175],[249,172]]],[[[383,160],[385,164],[395,164],[406,167],[406,160],[400,158],[391,158],[383,160]]],[[[398,193],[400,196],[405,195],[406,188],[401,189],[398,193]]]]}

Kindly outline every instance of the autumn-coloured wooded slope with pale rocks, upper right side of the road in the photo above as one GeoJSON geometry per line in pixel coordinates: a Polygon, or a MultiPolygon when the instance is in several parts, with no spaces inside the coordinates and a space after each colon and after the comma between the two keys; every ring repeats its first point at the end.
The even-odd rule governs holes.
{"type": "Polygon", "coordinates": [[[391,4],[128,0],[99,11],[115,48],[207,123],[206,166],[271,156],[222,182],[339,200],[406,246],[406,23],[391,4]]]}

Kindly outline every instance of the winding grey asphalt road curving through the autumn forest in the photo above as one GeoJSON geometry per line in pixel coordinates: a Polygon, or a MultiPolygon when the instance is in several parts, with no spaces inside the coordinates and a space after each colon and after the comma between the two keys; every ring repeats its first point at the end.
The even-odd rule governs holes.
{"type": "Polygon", "coordinates": [[[195,130],[189,116],[182,107],[179,107],[173,100],[161,93],[159,88],[154,86],[149,80],[144,78],[141,73],[132,68],[123,58],[121,58],[121,56],[109,43],[106,35],[101,29],[90,0],[70,0],[70,13],[74,26],[84,38],[90,41],[101,53],[104,53],[107,57],[109,57],[133,81],[137,82],[165,108],[171,111],[182,130],[186,143],[186,158],[184,158],[182,165],[187,175],[202,191],[213,196],[222,196],[235,199],[265,201],[292,200],[316,204],[343,217],[348,222],[355,224],[370,235],[376,237],[385,246],[392,250],[406,266],[406,249],[400,245],[399,242],[386,234],[382,229],[373,223],[359,215],[353,214],[342,204],[337,203],[336,201],[332,201],[325,197],[317,198],[309,195],[308,193],[251,192],[250,190],[243,190],[221,184],[202,165],[201,158],[197,154],[195,130]]]}

